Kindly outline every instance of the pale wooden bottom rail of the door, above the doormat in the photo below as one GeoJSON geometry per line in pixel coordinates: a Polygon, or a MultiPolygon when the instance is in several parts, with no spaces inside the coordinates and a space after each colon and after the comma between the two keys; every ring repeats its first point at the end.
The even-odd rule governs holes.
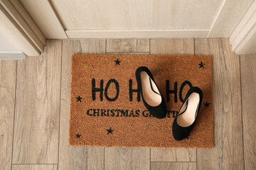
{"type": "Polygon", "coordinates": [[[208,29],[65,30],[70,39],[80,38],[206,38],[208,29]]]}

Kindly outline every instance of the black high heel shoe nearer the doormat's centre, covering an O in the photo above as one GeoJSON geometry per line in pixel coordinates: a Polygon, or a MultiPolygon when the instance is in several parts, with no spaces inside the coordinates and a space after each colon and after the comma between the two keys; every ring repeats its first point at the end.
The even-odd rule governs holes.
{"type": "Polygon", "coordinates": [[[156,118],[166,116],[166,105],[161,96],[154,78],[147,67],[139,67],[136,70],[138,89],[142,94],[142,101],[146,109],[156,118]]]}

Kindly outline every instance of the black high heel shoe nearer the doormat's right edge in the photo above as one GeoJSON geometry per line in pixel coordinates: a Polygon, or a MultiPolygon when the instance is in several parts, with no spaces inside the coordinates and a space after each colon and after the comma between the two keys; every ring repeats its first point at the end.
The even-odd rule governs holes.
{"type": "Polygon", "coordinates": [[[196,123],[202,99],[203,92],[198,87],[192,87],[188,90],[184,100],[185,102],[174,119],[172,131],[175,140],[188,138],[196,123]]]}

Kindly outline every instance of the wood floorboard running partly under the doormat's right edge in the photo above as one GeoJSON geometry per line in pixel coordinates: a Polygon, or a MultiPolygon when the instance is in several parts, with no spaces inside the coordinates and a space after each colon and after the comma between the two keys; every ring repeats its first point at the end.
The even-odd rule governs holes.
{"type": "Polygon", "coordinates": [[[228,39],[196,39],[196,55],[213,57],[213,149],[198,149],[198,169],[243,169],[239,56],[228,39]]]}

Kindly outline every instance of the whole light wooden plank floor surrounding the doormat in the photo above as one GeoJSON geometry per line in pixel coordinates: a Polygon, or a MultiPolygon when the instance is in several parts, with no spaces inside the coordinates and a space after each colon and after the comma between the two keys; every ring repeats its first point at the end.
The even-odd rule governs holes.
{"type": "Polygon", "coordinates": [[[0,60],[0,169],[256,169],[256,54],[228,39],[48,40],[40,57],[0,60]],[[213,56],[213,149],[68,146],[73,53],[213,56]]]}

